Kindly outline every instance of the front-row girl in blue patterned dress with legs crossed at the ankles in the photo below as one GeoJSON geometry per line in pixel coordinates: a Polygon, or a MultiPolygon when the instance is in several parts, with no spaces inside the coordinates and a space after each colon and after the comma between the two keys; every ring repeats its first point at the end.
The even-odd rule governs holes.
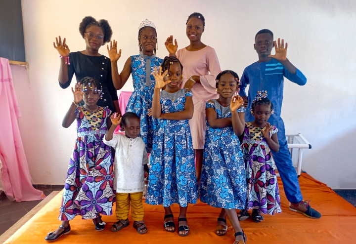
{"type": "Polygon", "coordinates": [[[206,103],[206,134],[200,200],[222,208],[216,234],[226,234],[226,214],[235,230],[235,243],[246,242],[236,209],[246,203],[246,171],[238,136],[243,133],[245,108],[238,90],[239,78],[230,70],[217,78],[218,99],[206,103]]]}

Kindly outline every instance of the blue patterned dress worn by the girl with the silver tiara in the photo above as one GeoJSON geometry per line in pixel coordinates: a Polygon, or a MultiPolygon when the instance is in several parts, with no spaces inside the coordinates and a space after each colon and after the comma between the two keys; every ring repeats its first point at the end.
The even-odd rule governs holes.
{"type": "Polygon", "coordinates": [[[132,93],[128,102],[126,112],[133,112],[140,117],[141,120],[141,134],[143,142],[146,145],[147,153],[152,149],[152,137],[153,137],[153,121],[152,117],[148,116],[148,109],[152,107],[153,90],[156,84],[152,72],[154,68],[162,64],[163,59],[156,56],[146,56],[143,54],[135,55],[131,57],[131,70],[134,82],[134,92],[132,93]],[[149,72],[150,85],[146,83],[146,62],[150,60],[151,69],[149,72]]]}

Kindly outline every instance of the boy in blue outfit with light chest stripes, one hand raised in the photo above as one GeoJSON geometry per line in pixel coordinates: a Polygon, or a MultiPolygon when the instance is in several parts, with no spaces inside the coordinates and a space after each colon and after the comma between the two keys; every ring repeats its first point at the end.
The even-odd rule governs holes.
{"type": "Polygon", "coordinates": [[[255,50],[259,61],[246,67],[240,81],[239,95],[245,100],[246,122],[254,121],[249,113],[251,104],[257,91],[267,90],[268,97],[274,106],[274,114],[269,117],[268,122],[278,128],[279,151],[272,152],[277,165],[279,175],[283,182],[284,192],[290,202],[289,209],[304,214],[307,217],[318,219],[321,214],[313,209],[306,201],[303,201],[296,170],[293,167],[291,155],[285,137],[285,129],[281,114],[283,100],[283,80],[288,80],[299,85],[305,85],[307,78],[287,59],[287,43],[282,39],[273,41],[273,33],[269,30],[261,30],[255,36],[255,50]],[[270,55],[275,47],[275,55],[270,55]],[[248,97],[245,88],[250,84],[248,97]]]}

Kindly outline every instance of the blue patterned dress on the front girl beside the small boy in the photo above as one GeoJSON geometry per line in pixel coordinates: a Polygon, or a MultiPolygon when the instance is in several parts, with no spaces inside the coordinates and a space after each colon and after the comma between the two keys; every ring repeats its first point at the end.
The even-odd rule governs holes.
{"type": "MultiPolygon", "coordinates": [[[[185,97],[192,93],[180,89],[161,91],[160,96],[162,113],[166,114],[183,111],[185,97]]],[[[198,187],[188,120],[158,120],[155,127],[146,203],[164,207],[196,203],[198,187]]]]}

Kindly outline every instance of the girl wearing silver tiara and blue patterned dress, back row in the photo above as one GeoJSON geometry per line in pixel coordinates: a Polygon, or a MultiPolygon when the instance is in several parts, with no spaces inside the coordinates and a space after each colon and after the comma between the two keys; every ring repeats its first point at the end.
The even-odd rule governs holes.
{"type": "Polygon", "coordinates": [[[141,134],[146,145],[147,153],[152,149],[153,122],[148,116],[148,109],[152,107],[153,89],[155,80],[151,73],[155,67],[162,64],[162,59],[156,57],[157,32],[156,26],[148,19],[144,20],[138,31],[138,45],[140,54],[130,56],[124,65],[120,75],[117,61],[121,56],[121,49],[117,51],[117,41],[110,42],[108,46],[111,61],[112,78],[116,89],[120,90],[132,74],[134,92],[130,97],[126,112],[133,112],[141,121],[141,134]],[[146,67],[149,67],[148,69],[146,67]]]}

